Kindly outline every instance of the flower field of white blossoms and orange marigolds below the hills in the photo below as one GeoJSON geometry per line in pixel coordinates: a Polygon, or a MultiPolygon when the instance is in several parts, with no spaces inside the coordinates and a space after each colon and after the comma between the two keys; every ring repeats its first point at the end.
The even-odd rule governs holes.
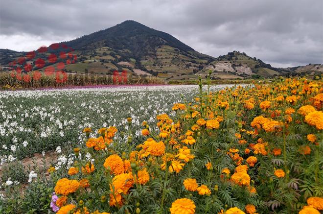
{"type": "Polygon", "coordinates": [[[322,86],[1,92],[0,212],[320,214],[322,86]],[[50,150],[19,192],[8,166],[50,150]]]}

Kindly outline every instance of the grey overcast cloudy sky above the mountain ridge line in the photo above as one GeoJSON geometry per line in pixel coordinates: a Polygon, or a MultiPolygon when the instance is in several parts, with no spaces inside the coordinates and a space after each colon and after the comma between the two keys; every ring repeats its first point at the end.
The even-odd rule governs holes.
{"type": "Polygon", "coordinates": [[[0,48],[68,41],[135,20],[217,57],[323,63],[323,0],[0,0],[0,48]]]}

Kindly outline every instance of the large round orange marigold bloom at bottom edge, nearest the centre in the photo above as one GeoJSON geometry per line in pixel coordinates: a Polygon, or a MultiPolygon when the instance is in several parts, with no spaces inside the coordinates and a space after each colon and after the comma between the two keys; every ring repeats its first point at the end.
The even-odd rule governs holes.
{"type": "Polygon", "coordinates": [[[195,208],[194,201],[188,198],[180,198],[172,203],[169,211],[170,214],[194,214],[195,208]]]}

